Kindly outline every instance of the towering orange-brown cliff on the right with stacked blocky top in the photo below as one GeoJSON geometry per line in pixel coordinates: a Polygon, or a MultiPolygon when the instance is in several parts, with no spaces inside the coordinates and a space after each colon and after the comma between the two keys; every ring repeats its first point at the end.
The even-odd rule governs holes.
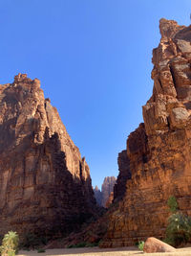
{"type": "MultiPolygon", "coordinates": [[[[153,51],[153,95],[143,106],[144,124],[130,134],[124,166],[119,166],[115,197],[124,195],[101,246],[162,239],[167,199],[191,215],[191,26],[159,22],[161,39],[153,51]],[[131,179],[121,177],[131,173],[131,179]],[[126,183],[126,184],[125,184],[126,183]],[[124,194],[125,190],[125,194],[124,194]]],[[[121,157],[119,157],[120,159],[121,157]]]]}

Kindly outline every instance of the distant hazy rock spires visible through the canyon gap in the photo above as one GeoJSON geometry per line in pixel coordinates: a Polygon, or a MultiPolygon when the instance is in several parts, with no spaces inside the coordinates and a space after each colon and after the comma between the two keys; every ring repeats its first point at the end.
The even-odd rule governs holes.
{"type": "Polygon", "coordinates": [[[101,191],[96,186],[94,189],[95,198],[98,205],[108,208],[114,198],[114,186],[116,184],[115,176],[106,176],[101,186],[101,191]],[[107,203],[107,206],[106,206],[107,203]]]}

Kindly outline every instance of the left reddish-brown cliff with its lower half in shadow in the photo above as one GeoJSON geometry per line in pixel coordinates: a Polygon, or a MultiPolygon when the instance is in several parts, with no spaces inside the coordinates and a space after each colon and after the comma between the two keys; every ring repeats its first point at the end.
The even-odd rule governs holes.
{"type": "Polygon", "coordinates": [[[0,86],[0,234],[59,237],[94,215],[89,167],[25,74],[0,86]]]}

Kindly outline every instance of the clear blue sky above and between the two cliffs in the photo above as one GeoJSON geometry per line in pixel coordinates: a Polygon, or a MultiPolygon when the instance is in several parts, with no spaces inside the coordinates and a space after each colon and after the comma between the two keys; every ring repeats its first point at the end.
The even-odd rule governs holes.
{"type": "Polygon", "coordinates": [[[0,83],[41,81],[100,187],[151,96],[159,18],[189,25],[191,1],[0,0],[0,12],[0,83]]]}

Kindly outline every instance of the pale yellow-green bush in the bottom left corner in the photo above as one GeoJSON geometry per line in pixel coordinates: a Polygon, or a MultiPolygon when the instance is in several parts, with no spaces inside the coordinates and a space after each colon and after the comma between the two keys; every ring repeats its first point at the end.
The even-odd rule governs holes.
{"type": "Polygon", "coordinates": [[[3,238],[0,251],[2,256],[14,256],[18,249],[18,235],[16,232],[9,231],[3,238]]]}

